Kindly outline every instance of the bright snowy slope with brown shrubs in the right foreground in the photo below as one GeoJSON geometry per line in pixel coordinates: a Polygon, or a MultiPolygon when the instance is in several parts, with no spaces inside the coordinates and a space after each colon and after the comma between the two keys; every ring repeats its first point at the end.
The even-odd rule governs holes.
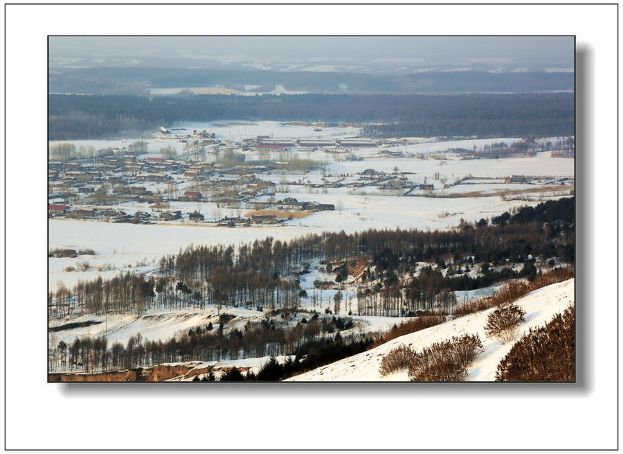
{"type": "MultiPolygon", "coordinates": [[[[528,329],[542,326],[549,322],[553,315],[564,311],[567,306],[574,303],[574,295],[574,279],[569,279],[534,290],[518,299],[516,304],[521,306],[526,313],[518,338],[528,329]]],[[[375,349],[318,367],[305,374],[291,377],[287,381],[408,381],[406,370],[386,377],[379,374],[379,366],[384,354],[400,344],[407,344],[413,349],[421,350],[434,342],[463,334],[478,334],[484,346],[482,353],[467,371],[468,381],[494,381],[496,367],[512,348],[512,342],[500,345],[496,340],[487,338],[484,326],[487,315],[491,311],[494,309],[473,313],[451,322],[401,336],[375,349]]]]}

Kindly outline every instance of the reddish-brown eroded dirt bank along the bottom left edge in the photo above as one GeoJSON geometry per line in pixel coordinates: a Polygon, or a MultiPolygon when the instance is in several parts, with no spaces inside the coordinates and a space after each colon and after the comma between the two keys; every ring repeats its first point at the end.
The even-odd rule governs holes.
{"type": "MultiPolygon", "coordinates": [[[[183,381],[196,375],[209,374],[210,366],[204,363],[180,364],[180,365],[158,365],[154,367],[136,367],[116,372],[100,372],[97,374],[85,374],[84,372],[74,372],[69,374],[48,374],[50,382],[84,382],[84,381],[167,381],[176,378],[176,381],[183,381]]],[[[213,372],[219,376],[219,372],[227,372],[231,367],[213,367],[213,372]]],[[[240,372],[246,372],[249,367],[239,367],[240,372]]]]}

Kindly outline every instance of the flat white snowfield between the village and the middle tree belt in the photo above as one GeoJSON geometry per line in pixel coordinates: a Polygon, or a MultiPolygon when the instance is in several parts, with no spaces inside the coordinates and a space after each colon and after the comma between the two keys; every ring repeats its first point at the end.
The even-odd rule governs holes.
{"type": "MultiPolygon", "coordinates": [[[[325,231],[346,233],[363,229],[447,229],[459,224],[460,219],[475,222],[480,218],[491,218],[513,207],[535,202],[521,200],[505,201],[498,197],[479,198],[422,198],[393,197],[380,195],[347,194],[347,188],[334,189],[331,194],[292,193],[301,201],[315,200],[320,203],[343,204],[343,209],[313,213],[301,219],[293,219],[282,225],[260,225],[251,227],[216,227],[213,224],[194,222],[170,222],[167,224],[132,225],[113,224],[91,220],[51,219],[49,226],[49,247],[75,250],[93,249],[95,256],[79,256],[77,259],[48,259],[51,289],[57,283],[73,286],[78,279],[95,279],[98,275],[112,277],[120,270],[147,272],[153,270],[154,260],[165,254],[177,254],[189,245],[238,245],[269,236],[285,241],[299,235],[325,231]],[[69,266],[88,261],[91,270],[85,272],[64,272],[69,266]],[[146,263],[142,267],[137,263],[146,263]],[[98,268],[112,265],[111,270],[98,272],[98,268]]],[[[281,198],[284,194],[278,194],[281,198]]],[[[197,203],[186,202],[191,207],[197,203]]],[[[138,208],[137,208],[138,209],[138,208]]],[[[237,210],[235,210],[237,211],[237,210]]],[[[242,210],[244,213],[245,210],[242,210]]],[[[184,211],[186,213],[186,211],[184,211]]],[[[212,218],[205,211],[206,218],[212,218]]],[[[222,210],[222,216],[230,214],[222,210]]]]}

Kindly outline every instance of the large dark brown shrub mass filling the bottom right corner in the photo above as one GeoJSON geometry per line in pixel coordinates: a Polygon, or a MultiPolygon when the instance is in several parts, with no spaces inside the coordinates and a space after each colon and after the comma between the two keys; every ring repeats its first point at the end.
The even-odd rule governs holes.
{"type": "Polygon", "coordinates": [[[575,381],[575,307],[518,340],[498,364],[496,381],[575,381]]]}

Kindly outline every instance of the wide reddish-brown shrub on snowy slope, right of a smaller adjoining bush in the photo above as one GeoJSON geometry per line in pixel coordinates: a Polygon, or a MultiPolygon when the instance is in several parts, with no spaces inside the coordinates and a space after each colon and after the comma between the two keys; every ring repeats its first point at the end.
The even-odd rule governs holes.
{"type": "Polygon", "coordinates": [[[467,367],[481,351],[482,342],[477,334],[435,342],[422,353],[415,353],[409,365],[409,380],[464,381],[467,367]]]}

